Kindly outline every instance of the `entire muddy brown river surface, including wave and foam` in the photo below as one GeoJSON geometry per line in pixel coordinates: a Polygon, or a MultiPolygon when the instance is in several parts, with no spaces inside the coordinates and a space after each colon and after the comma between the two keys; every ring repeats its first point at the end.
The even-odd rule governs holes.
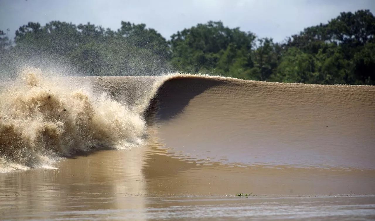
{"type": "Polygon", "coordinates": [[[2,85],[2,219],[375,218],[373,86],[34,69],[2,85]]]}

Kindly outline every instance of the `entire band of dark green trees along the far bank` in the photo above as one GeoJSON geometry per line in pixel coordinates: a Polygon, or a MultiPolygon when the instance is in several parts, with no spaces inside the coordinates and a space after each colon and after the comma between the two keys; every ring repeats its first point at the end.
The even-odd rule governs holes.
{"type": "Polygon", "coordinates": [[[66,60],[87,75],[204,73],[274,82],[375,84],[375,17],[342,12],[283,42],[209,21],[177,31],[169,40],[145,24],[117,30],[94,24],[29,22],[14,40],[0,31],[0,68],[44,56],[66,60]]]}

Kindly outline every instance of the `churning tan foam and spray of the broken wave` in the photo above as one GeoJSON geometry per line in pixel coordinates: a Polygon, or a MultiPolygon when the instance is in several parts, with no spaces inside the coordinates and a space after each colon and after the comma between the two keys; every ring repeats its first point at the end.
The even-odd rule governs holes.
{"type": "Polygon", "coordinates": [[[142,142],[139,113],[95,94],[24,68],[0,95],[0,167],[38,167],[52,158],[96,147],[127,148],[142,142]]]}

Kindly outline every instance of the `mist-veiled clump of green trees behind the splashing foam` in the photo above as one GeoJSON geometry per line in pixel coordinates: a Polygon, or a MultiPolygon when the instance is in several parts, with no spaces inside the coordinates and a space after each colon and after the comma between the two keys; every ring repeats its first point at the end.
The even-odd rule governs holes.
{"type": "Polygon", "coordinates": [[[151,74],[168,70],[166,40],[144,24],[121,22],[118,31],[94,24],[29,22],[16,31],[13,54],[47,55],[71,62],[89,75],[151,74]],[[163,66],[163,67],[161,67],[163,66]]]}

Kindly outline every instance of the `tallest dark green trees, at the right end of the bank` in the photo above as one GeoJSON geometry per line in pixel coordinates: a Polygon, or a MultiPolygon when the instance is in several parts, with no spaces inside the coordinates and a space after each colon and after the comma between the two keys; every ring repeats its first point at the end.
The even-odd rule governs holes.
{"type": "MultiPolygon", "coordinates": [[[[311,72],[314,73],[314,78],[301,78],[296,79],[297,81],[319,84],[374,84],[372,70],[375,60],[371,51],[374,39],[375,17],[369,10],[342,12],[327,24],[308,27],[300,34],[291,36],[282,45],[287,58],[283,57],[280,66],[288,63],[288,59],[291,61],[290,52],[294,50],[291,48],[298,48],[298,56],[305,53],[314,58],[315,68],[314,72],[311,72]]],[[[279,71],[273,75],[273,79],[284,79],[286,69],[287,67],[278,68],[279,71]],[[282,76],[277,77],[278,74],[282,76]]]]}

